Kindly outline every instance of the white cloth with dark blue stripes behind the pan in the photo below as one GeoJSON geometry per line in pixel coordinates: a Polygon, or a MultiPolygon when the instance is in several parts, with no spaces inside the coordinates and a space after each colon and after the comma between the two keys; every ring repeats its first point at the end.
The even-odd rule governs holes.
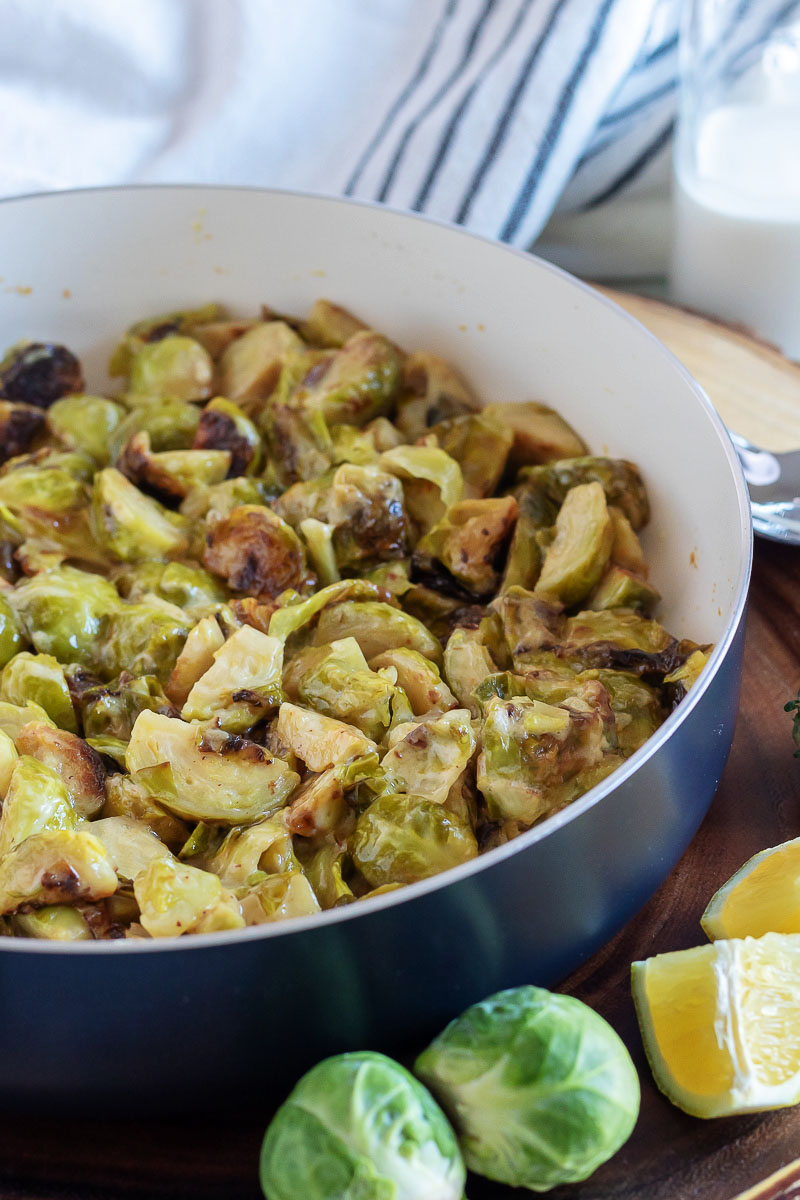
{"type": "MultiPolygon", "coordinates": [[[[582,270],[582,238],[603,258],[613,202],[654,180],[663,197],[679,7],[0,0],[0,194],[290,187],[381,200],[524,247],[558,206],[539,245],[549,238],[558,257],[560,239],[582,270]],[[564,224],[564,214],[585,211],[576,238],[582,221],[564,224]]],[[[790,7],[741,0],[738,28],[757,36],[790,7]]],[[[637,239],[628,226],[615,253],[637,240],[652,251],[652,229],[637,239]]]]}

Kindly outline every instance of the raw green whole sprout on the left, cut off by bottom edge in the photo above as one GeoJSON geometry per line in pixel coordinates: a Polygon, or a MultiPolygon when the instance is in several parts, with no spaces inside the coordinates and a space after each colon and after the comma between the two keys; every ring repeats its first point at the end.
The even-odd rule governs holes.
{"type": "Polygon", "coordinates": [[[266,1200],[462,1200],[465,1174],[431,1094],[367,1050],[303,1075],[261,1146],[266,1200]]]}

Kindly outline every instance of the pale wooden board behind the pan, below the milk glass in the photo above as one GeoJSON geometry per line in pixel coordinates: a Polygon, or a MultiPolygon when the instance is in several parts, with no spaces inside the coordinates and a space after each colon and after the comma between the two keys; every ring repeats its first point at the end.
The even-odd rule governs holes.
{"type": "Polygon", "coordinates": [[[599,287],[646,325],[703,385],[729,428],[765,450],[800,446],[800,364],[744,329],[649,296],[599,287]]]}

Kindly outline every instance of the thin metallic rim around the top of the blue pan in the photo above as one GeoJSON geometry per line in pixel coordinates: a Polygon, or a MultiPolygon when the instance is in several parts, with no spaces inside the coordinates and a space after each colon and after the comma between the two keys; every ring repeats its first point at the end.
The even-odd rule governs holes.
{"type": "Polygon", "coordinates": [[[540,258],[536,254],[531,254],[529,251],[519,250],[516,246],[510,246],[506,242],[495,241],[483,234],[474,233],[469,229],[463,229],[459,226],[453,226],[452,223],[444,221],[438,217],[421,216],[415,212],[408,212],[403,209],[395,209],[386,204],[379,204],[372,200],[350,199],[343,198],[341,196],[324,193],[324,192],[307,192],[295,188],[273,188],[273,187],[258,187],[251,185],[229,185],[229,184],[126,184],[126,185],[104,185],[100,187],[74,187],[64,188],[61,191],[54,192],[29,192],[23,196],[10,196],[0,199],[0,204],[5,206],[14,204],[24,204],[30,200],[42,200],[42,202],[58,202],[65,196],[85,196],[96,193],[107,194],[125,194],[127,192],[234,192],[234,193],[257,193],[260,196],[269,197],[287,197],[296,198],[300,200],[312,200],[321,204],[330,204],[341,208],[362,208],[371,212],[386,211],[393,217],[399,217],[411,224],[433,224],[441,229],[446,229],[449,234],[457,238],[470,238],[476,241],[493,246],[498,253],[512,254],[523,259],[533,259],[537,269],[543,269],[561,280],[566,281],[570,286],[577,288],[584,295],[591,298],[591,302],[599,302],[608,308],[613,308],[618,317],[637,326],[639,336],[646,338],[652,346],[655,346],[656,352],[666,358],[670,364],[673,371],[676,372],[678,377],[688,386],[693,392],[697,403],[710,418],[711,425],[717,434],[720,445],[723,454],[728,460],[728,466],[730,468],[734,485],[736,488],[738,499],[738,517],[739,517],[739,577],[735,583],[735,600],[732,606],[730,614],[724,626],[724,631],[718,641],[715,643],[709,661],[703,670],[700,678],[697,684],[692,688],[690,694],[680,702],[680,704],[669,714],[667,720],[658,727],[658,730],[642,745],[630,758],[625,761],[621,767],[618,767],[612,774],[604,779],[602,782],[597,784],[595,787],[590,788],[583,796],[578,797],[566,808],[561,809],[559,812],[554,812],[552,816],[547,817],[540,824],[534,826],[525,833],[519,834],[512,841],[506,842],[504,846],[497,846],[493,850],[486,851],[483,854],[479,854],[477,858],[471,859],[468,863],[462,863],[458,866],[449,868],[446,871],[441,871],[439,875],[431,876],[427,880],[420,880],[416,883],[408,883],[404,887],[397,888],[395,892],[385,893],[384,895],[375,896],[374,899],[365,898],[363,901],[359,900],[355,904],[345,905],[342,908],[329,908],[325,912],[314,913],[308,917],[294,917],[283,922],[267,923],[264,925],[249,925],[246,929],[219,931],[213,934],[193,934],[188,937],[176,937],[176,938],[119,938],[109,941],[86,941],[86,942],[71,942],[65,944],[58,941],[47,941],[40,938],[25,938],[25,937],[0,937],[0,953],[20,953],[20,954],[50,954],[50,955],[64,955],[70,956],[76,954],[154,954],[154,953],[169,953],[180,952],[187,953],[191,950],[201,950],[207,948],[222,949],[230,944],[241,944],[245,942],[260,942],[267,941],[273,937],[288,937],[305,932],[306,930],[323,930],[330,925],[338,925],[343,922],[350,922],[357,918],[368,917],[369,914],[378,914],[379,912],[392,908],[396,905],[410,902],[417,898],[425,896],[428,893],[437,892],[440,888],[446,888],[452,884],[463,882],[470,878],[473,875],[481,874],[492,866],[497,866],[506,858],[510,858],[517,853],[521,853],[525,848],[533,846],[534,844],[542,841],[549,834],[555,833],[564,826],[570,824],[572,821],[577,821],[584,812],[600,804],[606,796],[615,791],[628,779],[631,779],[640,767],[644,766],[654,755],[656,755],[663,744],[669,740],[673,733],[681,726],[686,720],[690,719],[693,709],[697,707],[703,695],[710,688],[715,676],[717,674],[723,660],[726,659],[728,650],[733,643],[736,635],[739,625],[742,620],[745,606],[747,602],[747,590],[750,586],[750,576],[752,571],[753,560],[753,532],[752,532],[752,517],[750,509],[750,494],[747,492],[747,485],[745,482],[745,476],[739,462],[739,457],[733,448],[733,443],[728,436],[728,431],[718,415],[711,401],[709,400],[706,392],[700,386],[700,384],[694,379],[692,374],[686,370],[686,367],[680,362],[680,360],[669,350],[663,342],[661,342],[654,334],[650,332],[640,322],[627,313],[619,305],[614,304],[608,296],[597,292],[591,284],[578,280],[576,276],[571,275],[569,271],[563,270],[553,263],[540,258]]]}

